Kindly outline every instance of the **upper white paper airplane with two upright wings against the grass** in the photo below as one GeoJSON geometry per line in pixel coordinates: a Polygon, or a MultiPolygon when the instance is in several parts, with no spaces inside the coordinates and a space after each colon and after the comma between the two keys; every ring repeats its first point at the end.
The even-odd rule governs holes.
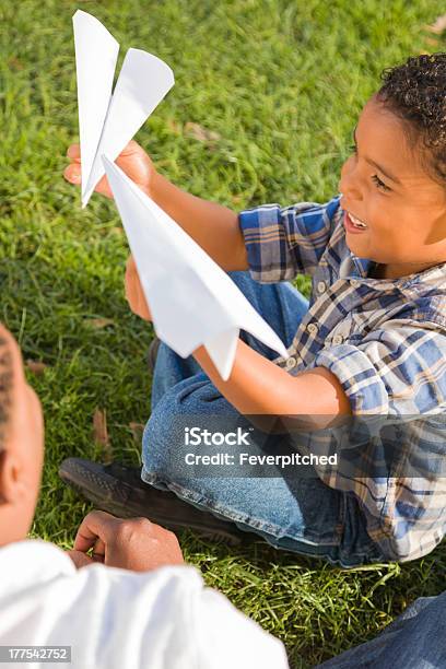
{"type": "Polygon", "coordinates": [[[101,155],[113,161],[175,83],[156,56],[129,49],[111,94],[119,44],[91,14],[73,16],[82,157],[82,207],[104,176],[101,155]]]}

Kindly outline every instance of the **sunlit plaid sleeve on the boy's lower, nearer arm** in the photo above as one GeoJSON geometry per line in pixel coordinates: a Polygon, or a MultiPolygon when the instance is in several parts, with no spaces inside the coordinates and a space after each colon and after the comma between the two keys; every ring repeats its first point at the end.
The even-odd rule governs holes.
{"type": "Polygon", "coordinates": [[[338,377],[354,415],[419,415],[446,406],[446,336],[429,324],[388,321],[359,343],[322,349],[312,366],[338,377]]]}

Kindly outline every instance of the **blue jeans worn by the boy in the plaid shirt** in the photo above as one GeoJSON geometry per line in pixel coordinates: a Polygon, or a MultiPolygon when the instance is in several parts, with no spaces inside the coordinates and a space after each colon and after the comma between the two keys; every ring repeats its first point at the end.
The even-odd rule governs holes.
{"type": "MultiPolygon", "coordinates": [[[[231,278],[289,347],[308,309],[308,302],[291,284],[260,284],[248,272],[231,278]]],[[[261,355],[277,353],[248,333],[242,338],[261,355]]],[[[184,466],[173,467],[185,434],[178,418],[234,416],[227,402],[192,359],[179,357],[161,344],[152,384],[152,415],[142,444],[142,479],[168,489],[195,506],[254,531],[270,544],[315,555],[344,567],[383,562],[385,556],[367,535],[355,497],[310,478],[197,478],[184,466]]]]}

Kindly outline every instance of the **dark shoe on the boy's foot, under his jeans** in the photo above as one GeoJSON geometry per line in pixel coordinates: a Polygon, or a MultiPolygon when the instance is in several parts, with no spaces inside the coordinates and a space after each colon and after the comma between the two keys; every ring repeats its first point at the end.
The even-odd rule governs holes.
{"type": "Polygon", "coordinates": [[[196,508],[171,491],[144,483],[140,471],[139,467],[118,462],[101,465],[82,458],[67,458],[60,465],[59,476],[99,509],[118,518],[143,516],[173,531],[191,529],[232,545],[259,538],[238,529],[234,523],[196,508]]]}

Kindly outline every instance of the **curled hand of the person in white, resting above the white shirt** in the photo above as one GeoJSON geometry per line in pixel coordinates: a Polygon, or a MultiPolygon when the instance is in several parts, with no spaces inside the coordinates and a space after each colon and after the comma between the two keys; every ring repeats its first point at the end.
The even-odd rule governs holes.
{"type": "Polygon", "coordinates": [[[74,551],[86,553],[91,548],[94,562],[133,572],[184,564],[176,536],[146,518],[122,520],[105,512],[92,512],[81,523],[74,551]]]}

